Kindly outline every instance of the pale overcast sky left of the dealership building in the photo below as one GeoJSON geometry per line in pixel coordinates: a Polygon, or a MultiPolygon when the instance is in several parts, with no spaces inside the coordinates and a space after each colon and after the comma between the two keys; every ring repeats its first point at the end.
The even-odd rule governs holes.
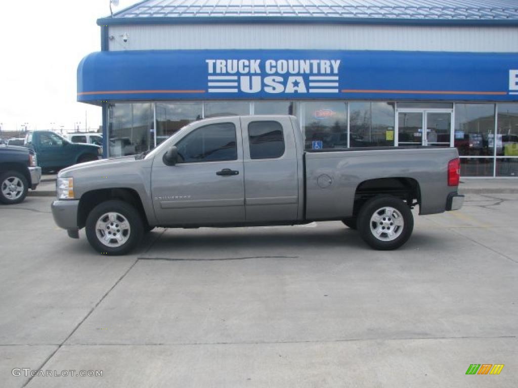
{"type": "MultiPolygon", "coordinates": [[[[113,11],[135,3],[120,0],[113,11]]],[[[76,73],[100,50],[96,20],[109,14],[109,0],[0,1],[2,130],[99,127],[101,109],[76,101],[76,73]]]]}

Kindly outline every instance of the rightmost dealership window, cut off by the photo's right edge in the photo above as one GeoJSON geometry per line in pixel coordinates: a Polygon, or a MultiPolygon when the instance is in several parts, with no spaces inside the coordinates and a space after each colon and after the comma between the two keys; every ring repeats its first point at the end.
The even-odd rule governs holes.
{"type": "Polygon", "coordinates": [[[518,176],[518,103],[497,105],[496,175],[518,176]]]}

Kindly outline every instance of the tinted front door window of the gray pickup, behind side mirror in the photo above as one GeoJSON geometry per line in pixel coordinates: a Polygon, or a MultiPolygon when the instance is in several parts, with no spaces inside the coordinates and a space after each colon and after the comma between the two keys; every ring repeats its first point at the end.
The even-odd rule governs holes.
{"type": "Polygon", "coordinates": [[[236,127],[232,123],[200,127],[176,146],[179,160],[184,163],[236,160],[236,127]]]}

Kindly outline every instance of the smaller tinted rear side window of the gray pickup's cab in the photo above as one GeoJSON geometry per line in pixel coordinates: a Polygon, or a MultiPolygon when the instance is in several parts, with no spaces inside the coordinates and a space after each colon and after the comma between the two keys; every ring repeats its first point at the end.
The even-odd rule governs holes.
{"type": "Polygon", "coordinates": [[[282,125],[276,121],[256,121],[248,125],[251,159],[279,158],[284,154],[282,125]]]}

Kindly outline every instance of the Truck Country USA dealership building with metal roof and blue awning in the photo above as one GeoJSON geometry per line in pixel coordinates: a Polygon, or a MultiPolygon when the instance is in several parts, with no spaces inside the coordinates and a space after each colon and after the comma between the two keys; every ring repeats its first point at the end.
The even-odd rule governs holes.
{"type": "Polygon", "coordinates": [[[307,148],[452,146],[464,176],[518,176],[515,0],[147,0],[97,24],[77,98],[105,156],[293,114],[307,148]]]}

